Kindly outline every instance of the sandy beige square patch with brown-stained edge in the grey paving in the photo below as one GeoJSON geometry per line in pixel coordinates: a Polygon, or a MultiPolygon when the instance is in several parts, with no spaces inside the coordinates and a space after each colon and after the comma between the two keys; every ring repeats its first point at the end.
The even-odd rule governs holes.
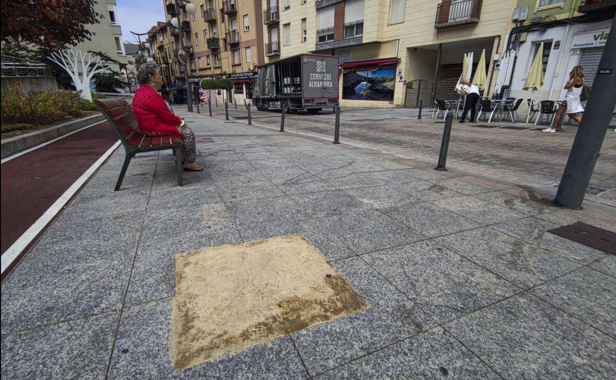
{"type": "Polygon", "coordinates": [[[178,253],[174,366],[182,370],[368,307],[301,234],[178,253]]]}

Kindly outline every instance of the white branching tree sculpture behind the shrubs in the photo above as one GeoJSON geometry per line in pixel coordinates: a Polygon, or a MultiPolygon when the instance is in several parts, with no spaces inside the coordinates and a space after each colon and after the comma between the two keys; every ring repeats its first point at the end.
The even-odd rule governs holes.
{"type": "Polygon", "coordinates": [[[92,101],[92,94],[90,92],[90,81],[92,76],[96,73],[102,73],[103,71],[110,71],[107,67],[99,67],[100,57],[96,57],[96,59],[93,60],[92,53],[83,54],[80,50],[75,51],[66,49],[60,52],[53,52],[51,57],[47,58],[66,70],[68,75],[73,79],[79,96],[90,101],[92,101]],[[81,73],[79,72],[79,63],[81,63],[81,73]],[[94,63],[94,66],[90,67],[92,63],[94,63]]]}

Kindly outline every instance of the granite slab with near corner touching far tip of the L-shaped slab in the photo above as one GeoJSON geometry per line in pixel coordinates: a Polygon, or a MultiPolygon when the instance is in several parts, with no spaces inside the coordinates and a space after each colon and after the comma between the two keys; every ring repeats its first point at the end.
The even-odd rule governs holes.
{"type": "Polygon", "coordinates": [[[346,245],[359,254],[426,238],[379,211],[343,214],[322,220],[326,228],[336,233],[346,245]]]}

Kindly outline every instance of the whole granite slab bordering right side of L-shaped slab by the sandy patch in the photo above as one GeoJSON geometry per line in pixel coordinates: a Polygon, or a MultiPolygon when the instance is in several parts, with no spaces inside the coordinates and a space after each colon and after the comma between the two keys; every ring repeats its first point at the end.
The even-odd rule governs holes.
{"type": "Polygon", "coordinates": [[[434,241],[419,241],[362,257],[439,323],[521,291],[434,241]]]}

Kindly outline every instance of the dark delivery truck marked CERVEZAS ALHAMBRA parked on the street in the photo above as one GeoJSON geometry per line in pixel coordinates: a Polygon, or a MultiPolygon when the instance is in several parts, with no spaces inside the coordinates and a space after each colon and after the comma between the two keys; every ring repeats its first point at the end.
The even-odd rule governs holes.
{"type": "Polygon", "coordinates": [[[338,107],[338,57],[299,54],[257,67],[253,105],[285,113],[338,107]]]}

